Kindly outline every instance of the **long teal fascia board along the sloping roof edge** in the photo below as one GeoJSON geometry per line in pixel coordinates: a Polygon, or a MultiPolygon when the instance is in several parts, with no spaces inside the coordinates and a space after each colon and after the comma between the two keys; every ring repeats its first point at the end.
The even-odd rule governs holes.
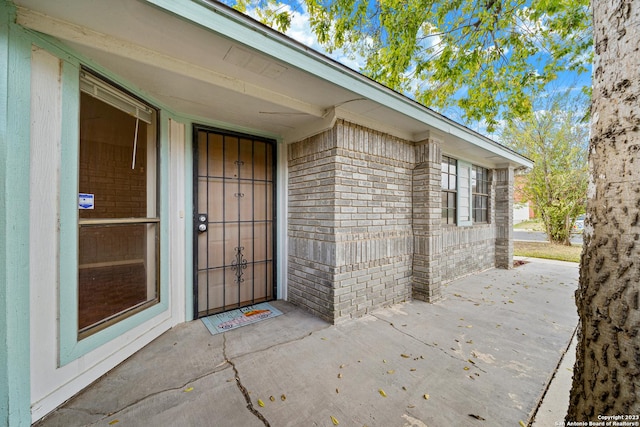
{"type": "Polygon", "coordinates": [[[508,161],[532,167],[533,163],[515,151],[448,119],[422,104],[339,64],[327,56],[309,50],[298,42],[249,18],[236,15],[224,6],[204,0],[144,0],[183,19],[189,20],[223,37],[284,61],[292,67],[350,90],[441,132],[451,134],[473,145],[489,150],[508,161]]]}

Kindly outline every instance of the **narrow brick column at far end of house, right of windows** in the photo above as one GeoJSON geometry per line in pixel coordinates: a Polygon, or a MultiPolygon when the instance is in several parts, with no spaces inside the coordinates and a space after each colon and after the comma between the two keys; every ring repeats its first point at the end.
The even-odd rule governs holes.
{"type": "Polygon", "coordinates": [[[495,222],[496,222],[496,267],[513,268],[513,168],[496,169],[495,222]]]}

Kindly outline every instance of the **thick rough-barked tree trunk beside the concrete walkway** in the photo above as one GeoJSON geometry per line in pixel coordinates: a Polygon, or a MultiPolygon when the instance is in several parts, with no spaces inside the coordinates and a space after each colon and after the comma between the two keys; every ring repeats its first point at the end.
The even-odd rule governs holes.
{"type": "Polygon", "coordinates": [[[566,418],[573,422],[640,415],[640,2],[592,7],[590,182],[576,292],[581,325],[566,418]]]}

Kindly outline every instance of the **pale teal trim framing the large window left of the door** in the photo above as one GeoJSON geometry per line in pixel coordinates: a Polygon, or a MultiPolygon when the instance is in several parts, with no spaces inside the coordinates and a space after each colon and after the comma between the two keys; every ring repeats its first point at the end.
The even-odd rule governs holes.
{"type": "MultiPolygon", "coordinates": [[[[78,340],[78,157],[80,87],[79,63],[64,62],[62,73],[62,153],[60,176],[60,360],[61,366],[104,346],[125,332],[166,312],[169,307],[169,149],[166,129],[159,138],[160,302],[78,340]]],[[[112,79],[119,82],[117,79],[112,79]]],[[[126,85],[122,85],[125,86],[126,85]]],[[[134,92],[134,91],[132,91],[134,92]]],[[[134,92],[135,93],[135,92],[134,92]]]]}

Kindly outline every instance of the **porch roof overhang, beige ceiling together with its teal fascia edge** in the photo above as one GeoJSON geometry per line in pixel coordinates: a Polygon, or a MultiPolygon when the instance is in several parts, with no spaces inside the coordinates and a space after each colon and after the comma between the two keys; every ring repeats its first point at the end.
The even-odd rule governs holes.
{"type": "MultiPolygon", "coordinates": [[[[148,1],[14,3],[18,6],[18,23],[61,40],[182,115],[240,126],[285,141],[309,136],[328,126],[334,117],[344,117],[407,140],[435,135],[443,140],[445,152],[487,167],[527,164],[526,159],[487,138],[412,105],[404,97],[222,6],[206,9],[210,16],[203,19],[211,18],[214,23],[225,15],[245,30],[254,29],[258,48],[262,41],[277,40],[282,44],[282,55],[260,52],[256,46],[238,42],[237,35],[228,29],[211,28],[214,24],[205,21],[194,23],[148,1]],[[287,61],[290,52],[307,55],[306,69],[287,61]],[[314,61],[318,69],[326,67],[330,73],[324,77],[310,72],[314,61]],[[329,80],[336,76],[342,84],[329,80]],[[350,90],[350,81],[354,90],[350,90]],[[369,91],[362,89],[367,85],[376,96],[368,96],[369,91]],[[385,97],[398,105],[407,104],[426,120],[380,102],[385,97]]],[[[202,9],[204,3],[185,4],[202,9]]]]}

